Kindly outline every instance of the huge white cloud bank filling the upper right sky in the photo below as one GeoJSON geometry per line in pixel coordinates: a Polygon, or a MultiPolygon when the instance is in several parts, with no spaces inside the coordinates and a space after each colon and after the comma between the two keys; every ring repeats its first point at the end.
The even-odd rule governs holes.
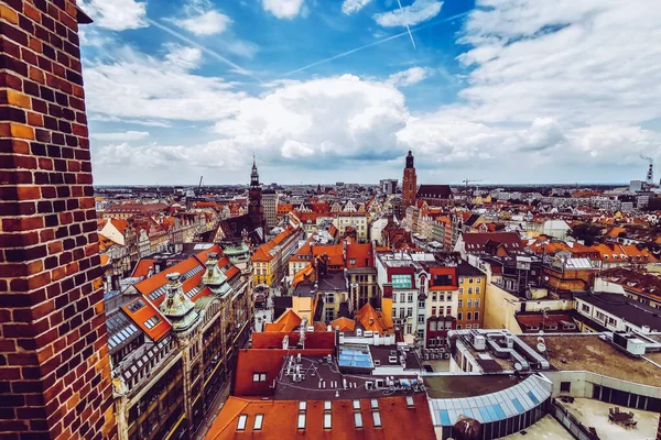
{"type": "Polygon", "coordinates": [[[594,166],[611,182],[598,167],[660,158],[661,134],[641,127],[661,118],[654,3],[478,1],[460,35],[474,46],[458,57],[470,68],[460,100],[411,118],[398,140],[422,163],[488,160],[506,180],[532,168],[585,182],[563,167],[594,166]]]}

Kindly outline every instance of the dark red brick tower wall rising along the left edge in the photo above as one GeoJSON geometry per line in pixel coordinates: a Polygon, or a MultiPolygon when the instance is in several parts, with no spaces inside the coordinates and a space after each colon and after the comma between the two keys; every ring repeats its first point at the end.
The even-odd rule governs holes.
{"type": "Polygon", "coordinates": [[[116,438],[74,0],[0,1],[0,438],[116,438]]]}

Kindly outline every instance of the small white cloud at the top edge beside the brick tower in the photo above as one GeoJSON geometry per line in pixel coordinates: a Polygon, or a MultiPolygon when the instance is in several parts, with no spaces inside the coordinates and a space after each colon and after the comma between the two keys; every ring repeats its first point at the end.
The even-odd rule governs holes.
{"type": "Polygon", "coordinates": [[[95,24],[111,31],[147,28],[147,3],[137,0],[83,0],[78,3],[95,24]]]}

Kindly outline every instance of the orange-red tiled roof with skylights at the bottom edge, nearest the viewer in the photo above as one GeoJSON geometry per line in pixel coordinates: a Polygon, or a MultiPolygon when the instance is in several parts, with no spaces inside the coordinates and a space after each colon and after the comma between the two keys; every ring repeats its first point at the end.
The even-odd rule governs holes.
{"type": "MultiPolygon", "coordinates": [[[[376,397],[376,396],[375,396],[376,397]]],[[[415,394],[413,405],[407,396],[378,397],[381,426],[375,426],[370,399],[360,399],[355,410],[353,400],[334,399],[332,409],[325,410],[323,400],[307,400],[305,429],[297,429],[299,402],[246,399],[229,397],[206,440],[224,439],[434,439],[434,425],[426,396],[415,394]],[[330,428],[324,429],[325,413],[330,414],[330,428]],[[362,427],[356,427],[355,414],[361,415],[362,427]],[[243,430],[237,430],[240,416],[246,416],[243,430]],[[261,415],[261,429],[254,429],[256,416],[261,415]]]]}

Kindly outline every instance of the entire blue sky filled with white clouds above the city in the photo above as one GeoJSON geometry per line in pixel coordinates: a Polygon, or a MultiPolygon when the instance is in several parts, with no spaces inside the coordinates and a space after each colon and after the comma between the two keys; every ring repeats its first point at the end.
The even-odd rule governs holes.
{"type": "Polygon", "coordinates": [[[253,152],[281,184],[408,150],[421,183],[661,167],[658,0],[79,2],[96,184],[248,183],[253,152]]]}

